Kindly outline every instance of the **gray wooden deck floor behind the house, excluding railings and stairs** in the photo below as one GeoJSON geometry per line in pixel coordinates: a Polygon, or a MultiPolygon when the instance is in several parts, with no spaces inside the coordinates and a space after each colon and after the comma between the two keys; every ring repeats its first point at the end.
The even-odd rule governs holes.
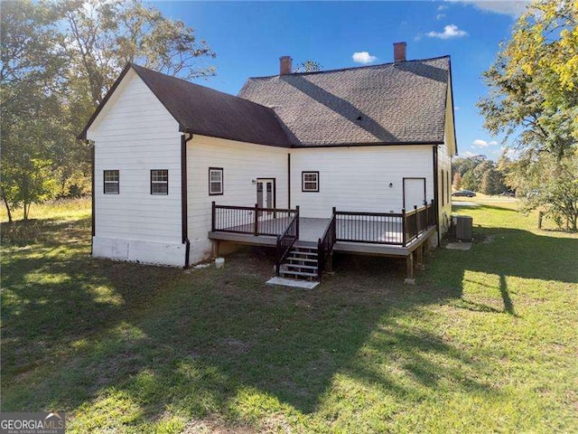
{"type": "MultiPolygon", "coordinates": [[[[309,217],[299,218],[299,240],[295,242],[295,246],[317,245],[317,241],[323,236],[323,232],[331,219],[315,219],[309,217]]],[[[289,222],[288,217],[278,219],[269,219],[258,222],[258,230],[266,233],[280,234],[280,231],[286,227],[289,222]]],[[[420,233],[420,235],[413,241],[408,242],[406,247],[401,245],[393,245],[388,243],[401,243],[403,234],[400,224],[385,224],[380,222],[349,222],[348,231],[356,231],[359,233],[366,233],[370,235],[371,240],[378,240],[379,243],[368,242],[348,242],[337,241],[333,248],[334,251],[343,253],[359,253],[379,256],[393,256],[406,257],[417,247],[419,247],[425,240],[427,240],[435,231],[435,227],[430,227],[420,233]]],[[[258,246],[275,246],[276,236],[269,235],[254,235],[253,224],[242,224],[233,226],[227,231],[210,231],[210,240],[219,241],[234,241],[242,244],[258,245],[258,246]]],[[[347,238],[347,234],[340,233],[343,231],[339,228],[337,230],[337,238],[347,238]]]]}

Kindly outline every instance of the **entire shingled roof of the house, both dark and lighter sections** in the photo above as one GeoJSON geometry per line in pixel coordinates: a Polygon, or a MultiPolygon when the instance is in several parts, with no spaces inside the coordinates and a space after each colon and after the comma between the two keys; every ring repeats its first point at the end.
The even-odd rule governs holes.
{"type": "Polygon", "coordinates": [[[79,138],[129,71],[180,131],[259,145],[435,145],[453,121],[449,56],[252,78],[239,97],[129,63],[79,138]]]}

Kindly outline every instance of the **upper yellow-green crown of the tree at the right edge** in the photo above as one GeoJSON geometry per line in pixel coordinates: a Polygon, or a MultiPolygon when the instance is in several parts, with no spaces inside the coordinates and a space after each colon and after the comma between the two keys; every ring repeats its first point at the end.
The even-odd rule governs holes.
{"type": "Polygon", "coordinates": [[[578,3],[538,0],[484,72],[489,95],[478,107],[493,134],[517,147],[562,158],[578,139],[578,3]]]}

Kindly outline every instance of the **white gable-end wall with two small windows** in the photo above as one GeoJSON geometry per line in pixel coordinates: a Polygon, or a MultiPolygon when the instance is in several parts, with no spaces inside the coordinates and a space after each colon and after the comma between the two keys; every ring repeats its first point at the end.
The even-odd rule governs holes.
{"type": "Polygon", "coordinates": [[[95,256],[182,266],[181,134],[134,71],[88,132],[95,142],[95,256]],[[169,194],[150,193],[151,169],[169,171],[169,194]],[[103,171],[119,171],[119,194],[103,171]]]}

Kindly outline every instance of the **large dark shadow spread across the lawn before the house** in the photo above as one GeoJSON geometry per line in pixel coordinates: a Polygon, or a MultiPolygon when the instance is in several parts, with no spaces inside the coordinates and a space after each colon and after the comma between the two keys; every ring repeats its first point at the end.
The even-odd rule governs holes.
{"type": "MultiPolygon", "coordinates": [[[[443,251],[425,287],[404,287],[399,261],[341,255],[336,276],[303,292],[264,285],[273,259],[263,250],[186,274],[90,259],[87,222],[47,222],[33,245],[8,248],[2,259],[2,410],[82,406],[90,414],[107,411],[94,401],[110,399],[109,406],[128,400],[140,409],[132,424],[158,420],[167,408],[245,420],[239,408],[266,409],[273,397],[311,413],[337,373],[401,400],[419,401],[441,383],[499,394],[478,380],[484,367],[467,351],[406,321],[421,307],[460,299],[465,269],[498,274],[510,314],[505,276],[576,281],[575,271],[536,259],[536,249],[546,258],[552,251],[547,237],[499,233],[504,240],[487,251],[481,244],[455,258],[443,251]],[[529,245],[535,250],[520,253],[529,245]],[[513,251],[524,257],[512,260],[513,251]]],[[[556,239],[558,251],[560,241],[564,251],[576,248],[556,239]]]]}

